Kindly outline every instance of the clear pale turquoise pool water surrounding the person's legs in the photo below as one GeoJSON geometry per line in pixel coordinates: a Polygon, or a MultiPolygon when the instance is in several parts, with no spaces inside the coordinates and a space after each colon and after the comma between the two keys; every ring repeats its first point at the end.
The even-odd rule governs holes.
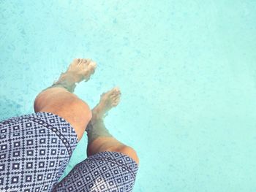
{"type": "Polygon", "coordinates": [[[0,1],[0,28],[1,120],[93,58],[75,93],[121,88],[106,124],[138,151],[134,191],[256,191],[256,1],[0,1]]]}

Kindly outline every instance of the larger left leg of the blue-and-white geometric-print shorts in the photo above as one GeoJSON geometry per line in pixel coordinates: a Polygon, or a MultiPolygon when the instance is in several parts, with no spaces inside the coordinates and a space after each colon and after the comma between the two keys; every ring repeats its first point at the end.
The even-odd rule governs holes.
{"type": "Polygon", "coordinates": [[[0,191],[52,191],[77,146],[75,130],[50,112],[0,122],[0,191]]]}

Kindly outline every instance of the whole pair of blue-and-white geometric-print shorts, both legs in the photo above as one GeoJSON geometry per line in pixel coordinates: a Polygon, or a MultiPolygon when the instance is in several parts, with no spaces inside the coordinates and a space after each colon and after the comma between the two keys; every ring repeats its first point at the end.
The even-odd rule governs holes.
{"type": "Polygon", "coordinates": [[[50,112],[1,121],[0,191],[132,191],[138,164],[116,152],[89,156],[58,183],[77,143],[67,120],[50,112]]]}

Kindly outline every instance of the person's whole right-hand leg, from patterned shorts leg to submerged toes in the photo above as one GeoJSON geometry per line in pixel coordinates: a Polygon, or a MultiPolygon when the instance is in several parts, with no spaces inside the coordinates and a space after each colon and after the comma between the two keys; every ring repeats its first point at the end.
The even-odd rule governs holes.
{"type": "Polygon", "coordinates": [[[105,128],[106,112],[120,100],[113,88],[103,93],[92,110],[88,133],[88,158],[77,164],[53,191],[124,191],[131,192],[138,172],[138,156],[132,147],[118,142],[105,128]]]}

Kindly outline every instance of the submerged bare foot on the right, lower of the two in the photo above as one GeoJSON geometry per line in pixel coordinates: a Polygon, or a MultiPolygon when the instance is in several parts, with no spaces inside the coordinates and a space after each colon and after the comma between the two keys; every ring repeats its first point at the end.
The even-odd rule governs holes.
{"type": "Polygon", "coordinates": [[[96,120],[102,120],[111,108],[118,105],[120,97],[121,92],[118,88],[113,88],[106,93],[102,93],[99,104],[91,111],[91,123],[94,123],[96,120]]]}

